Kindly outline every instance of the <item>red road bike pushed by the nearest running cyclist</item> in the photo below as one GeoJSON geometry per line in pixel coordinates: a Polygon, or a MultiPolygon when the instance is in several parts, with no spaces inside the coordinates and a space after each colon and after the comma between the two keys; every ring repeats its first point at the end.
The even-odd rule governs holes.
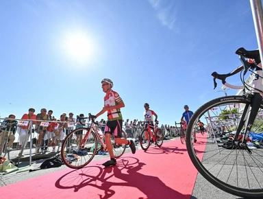
{"type": "MultiPolygon", "coordinates": [[[[66,166],[72,169],[80,169],[88,165],[99,151],[101,151],[101,154],[107,152],[99,124],[94,121],[95,116],[90,113],[88,115],[89,117],[77,117],[77,121],[82,124],[82,119],[88,119],[88,121],[91,121],[90,126],[76,128],[71,131],[62,143],[62,160],[66,166]],[[77,135],[82,137],[80,141],[78,141],[77,135]]],[[[85,124],[82,125],[85,126],[85,124]]],[[[124,131],[122,131],[121,138],[126,139],[124,131]]],[[[127,146],[125,144],[117,144],[114,134],[112,134],[111,141],[115,158],[121,157],[127,146]]]]}

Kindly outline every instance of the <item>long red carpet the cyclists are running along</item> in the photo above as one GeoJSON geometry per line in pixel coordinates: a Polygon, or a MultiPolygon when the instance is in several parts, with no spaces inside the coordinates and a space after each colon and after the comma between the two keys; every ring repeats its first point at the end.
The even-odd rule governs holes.
{"type": "MultiPolygon", "coordinates": [[[[205,136],[200,140],[205,143],[205,136]]],[[[201,156],[203,143],[196,148],[201,156]]],[[[147,152],[124,154],[115,167],[104,169],[103,162],[94,161],[84,169],[64,169],[0,187],[0,193],[8,198],[181,199],[190,198],[197,178],[186,145],[179,139],[164,143],[162,148],[151,146],[147,152]]]]}

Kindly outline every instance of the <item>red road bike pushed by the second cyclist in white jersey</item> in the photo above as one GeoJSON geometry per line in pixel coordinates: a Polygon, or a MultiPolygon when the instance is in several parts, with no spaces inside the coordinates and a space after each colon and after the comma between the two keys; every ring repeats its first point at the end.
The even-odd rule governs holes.
{"type": "Polygon", "coordinates": [[[141,124],[145,124],[145,129],[140,133],[140,146],[142,150],[147,151],[151,143],[155,143],[158,147],[162,146],[164,142],[164,135],[162,129],[158,128],[158,123],[151,125],[151,121],[141,121],[141,124]]]}

